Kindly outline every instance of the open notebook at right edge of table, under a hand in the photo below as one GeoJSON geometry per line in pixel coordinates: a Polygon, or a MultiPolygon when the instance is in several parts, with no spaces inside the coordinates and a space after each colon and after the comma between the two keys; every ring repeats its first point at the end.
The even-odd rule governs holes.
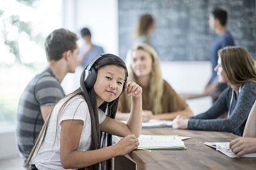
{"type": "MultiPolygon", "coordinates": [[[[229,142],[220,142],[220,143],[205,142],[204,145],[211,146],[212,148],[216,148],[216,150],[220,151],[221,153],[224,153],[230,158],[238,158],[238,156],[234,152],[232,152],[232,150],[229,148],[229,142]]],[[[241,157],[256,157],[256,153],[248,153],[241,157]]]]}

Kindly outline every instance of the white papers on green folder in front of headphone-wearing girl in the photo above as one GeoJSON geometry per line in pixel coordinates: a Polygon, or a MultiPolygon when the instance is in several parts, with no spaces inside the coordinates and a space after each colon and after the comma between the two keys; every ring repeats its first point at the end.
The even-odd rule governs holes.
{"type": "Polygon", "coordinates": [[[182,139],[187,139],[188,137],[181,136],[168,136],[168,135],[143,135],[141,134],[139,139],[140,149],[150,149],[150,150],[186,150],[184,142],[182,139]]]}

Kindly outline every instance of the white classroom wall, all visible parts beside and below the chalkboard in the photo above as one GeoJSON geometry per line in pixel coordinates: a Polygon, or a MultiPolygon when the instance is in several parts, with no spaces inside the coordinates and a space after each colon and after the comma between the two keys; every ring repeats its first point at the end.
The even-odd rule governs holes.
{"type": "MultiPolygon", "coordinates": [[[[102,45],[105,52],[118,55],[117,0],[63,0],[62,3],[63,27],[77,34],[79,34],[81,27],[90,27],[93,42],[102,45]]],[[[211,76],[211,64],[207,61],[162,62],[161,69],[163,78],[180,93],[202,92],[211,76]]],[[[72,92],[79,85],[80,71],[81,67],[77,67],[76,74],[68,74],[63,80],[62,86],[66,93],[72,92]]],[[[209,97],[188,100],[187,102],[194,113],[201,113],[211,107],[211,98],[209,97]]],[[[0,159],[19,155],[14,128],[0,132],[0,139],[0,159]]]]}

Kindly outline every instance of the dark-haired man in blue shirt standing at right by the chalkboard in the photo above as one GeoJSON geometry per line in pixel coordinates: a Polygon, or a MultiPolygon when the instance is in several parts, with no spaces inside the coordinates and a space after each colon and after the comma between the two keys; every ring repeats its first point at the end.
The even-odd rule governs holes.
{"type": "MultiPolygon", "coordinates": [[[[217,79],[217,73],[214,71],[214,67],[218,63],[218,50],[225,46],[234,46],[234,38],[226,28],[227,24],[227,11],[216,9],[213,10],[209,16],[209,26],[215,31],[216,37],[211,44],[211,65],[212,65],[212,77],[205,87],[204,94],[218,96],[223,90],[227,88],[227,83],[220,84],[217,79]]],[[[213,101],[216,101],[218,97],[212,97],[213,101]]]]}

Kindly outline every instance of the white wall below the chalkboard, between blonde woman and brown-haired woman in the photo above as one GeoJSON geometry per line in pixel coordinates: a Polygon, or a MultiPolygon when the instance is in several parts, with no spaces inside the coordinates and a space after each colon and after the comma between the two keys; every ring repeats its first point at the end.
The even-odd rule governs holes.
{"type": "MultiPolygon", "coordinates": [[[[180,94],[201,94],[211,77],[211,63],[209,61],[164,61],[161,62],[164,80],[180,94]]],[[[194,115],[203,113],[212,106],[212,98],[200,97],[188,99],[186,102],[194,115]]]]}

